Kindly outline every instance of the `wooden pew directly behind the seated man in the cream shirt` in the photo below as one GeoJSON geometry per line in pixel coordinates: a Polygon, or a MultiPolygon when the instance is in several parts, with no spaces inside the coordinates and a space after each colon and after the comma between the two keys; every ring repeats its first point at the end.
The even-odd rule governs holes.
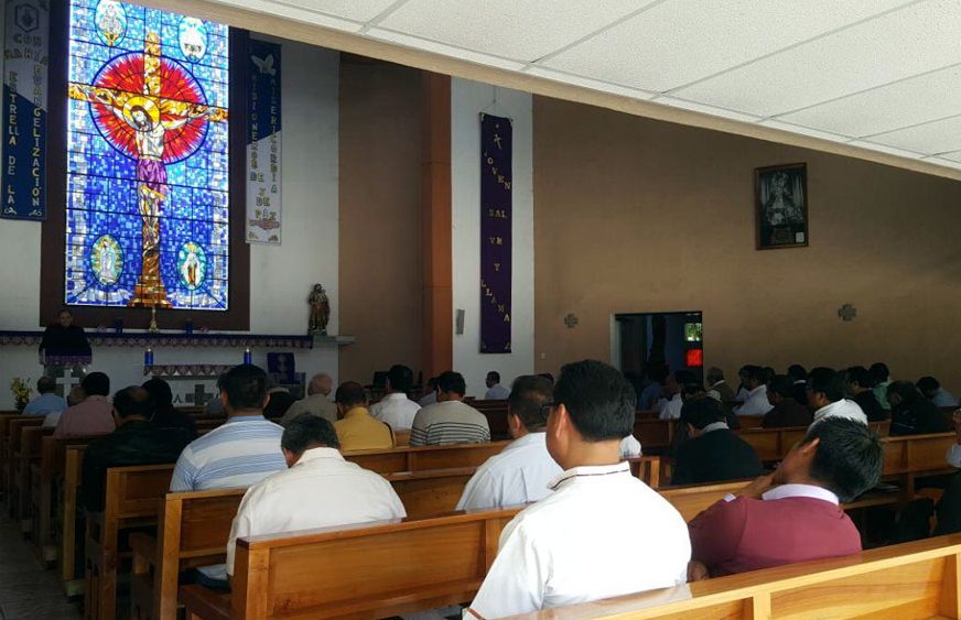
{"type": "Polygon", "coordinates": [[[186,618],[384,618],[471,600],[519,510],[241,539],[233,594],[183,587],[186,618]]]}

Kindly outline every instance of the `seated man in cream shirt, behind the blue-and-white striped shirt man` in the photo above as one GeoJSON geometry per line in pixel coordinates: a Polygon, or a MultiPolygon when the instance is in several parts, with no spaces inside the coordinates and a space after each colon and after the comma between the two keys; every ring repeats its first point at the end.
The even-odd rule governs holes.
{"type": "Polygon", "coordinates": [[[344,460],[326,420],[311,414],[291,420],[281,446],[290,469],[244,494],[227,541],[228,575],[234,574],[239,537],[407,516],[390,482],[344,460]]]}

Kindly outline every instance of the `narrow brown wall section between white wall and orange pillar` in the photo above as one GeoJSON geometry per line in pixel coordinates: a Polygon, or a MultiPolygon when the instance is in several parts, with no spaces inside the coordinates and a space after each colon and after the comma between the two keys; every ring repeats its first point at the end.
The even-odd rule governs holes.
{"type": "Polygon", "coordinates": [[[421,78],[342,55],[341,380],[421,366],[421,78]]]}

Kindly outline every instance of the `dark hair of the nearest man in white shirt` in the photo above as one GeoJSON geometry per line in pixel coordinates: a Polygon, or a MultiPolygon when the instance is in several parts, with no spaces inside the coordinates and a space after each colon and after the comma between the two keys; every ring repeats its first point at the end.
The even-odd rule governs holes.
{"type": "Polygon", "coordinates": [[[634,429],[637,393],[620,372],[596,360],[564,365],[554,384],[574,428],[587,442],[623,439],[634,429]]]}

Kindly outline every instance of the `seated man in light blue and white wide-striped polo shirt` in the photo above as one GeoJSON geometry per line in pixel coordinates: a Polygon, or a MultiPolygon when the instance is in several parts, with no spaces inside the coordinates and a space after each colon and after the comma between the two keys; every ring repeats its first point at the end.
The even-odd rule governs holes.
{"type": "MultiPolygon", "coordinates": [[[[184,448],[173,470],[171,491],[250,487],[287,469],[280,449],[283,427],[263,417],[267,405],[263,369],[250,363],[231,368],[220,378],[220,400],[227,422],[184,448]]],[[[198,568],[197,573],[204,585],[227,585],[223,564],[198,568]]]]}

